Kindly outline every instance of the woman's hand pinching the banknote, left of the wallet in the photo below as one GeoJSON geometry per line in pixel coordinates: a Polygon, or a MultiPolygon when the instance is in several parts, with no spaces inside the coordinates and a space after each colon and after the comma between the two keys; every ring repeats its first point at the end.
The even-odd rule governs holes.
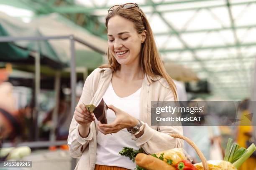
{"type": "Polygon", "coordinates": [[[75,108],[74,119],[82,126],[90,126],[95,120],[93,113],[90,113],[82,103],[75,108]]]}

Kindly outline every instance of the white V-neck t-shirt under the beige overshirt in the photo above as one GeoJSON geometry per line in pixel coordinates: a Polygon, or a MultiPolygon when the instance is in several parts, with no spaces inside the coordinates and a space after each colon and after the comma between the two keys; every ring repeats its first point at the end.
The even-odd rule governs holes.
{"type": "MultiPolygon", "coordinates": [[[[113,90],[110,82],[108,89],[103,95],[103,99],[107,105],[114,105],[120,110],[127,112],[131,116],[139,119],[139,101],[141,88],[127,97],[119,97],[113,90]]],[[[107,111],[108,124],[115,120],[115,113],[108,109],[107,111]]],[[[97,157],[96,164],[118,166],[127,169],[136,168],[136,164],[129,160],[128,157],[121,156],[118,153],[123,150],[123,147],[134,148],[138,150],[134,140],[131,139],[131,133],[127,129],[122,129],[118,133],[104,135],[100,131],[97,134],[97,157]]]]}

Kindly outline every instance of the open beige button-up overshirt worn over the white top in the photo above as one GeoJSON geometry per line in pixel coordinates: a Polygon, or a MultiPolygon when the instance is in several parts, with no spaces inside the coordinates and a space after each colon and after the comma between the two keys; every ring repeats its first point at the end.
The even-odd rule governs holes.
{"type": "MultiPolygon", "coordinates": [[[[86,79],[82,96],[77,105],[82,101],[84,104],[97,105],[104,95],[112,79],[110,68],[97,68],[86,79]]],[[[179,133],[183,135],[182,126],[151,126],[151,100],[173,101],[174,95],[166,80],[145,76],[140,97],[140,120],[146,123],[144,134],[134,142],[138,147],[148,153],[157,153],[161,150],[183,147],[183,141],[175,139],[168,134],[179,133]],[[148,78],[147,78],[148,77],[148,78]],[[160,83],[161,82],[161,83],[160,83]],[[162,84],[162,85],[161,85],[162,84]],[[165,87],[163,87],[163,85],[165,87]]],[[[122,110],[122,108],[120,108],[122,110]]],[[[94,170],[97,149],[97,126],[96,122],[90,125],[90,133],[87,138],[82,138],[78,132],[78,123],[72,119],[69,127],[68,145],[73,158],[80,158],[75,170],[94,170]]]]}

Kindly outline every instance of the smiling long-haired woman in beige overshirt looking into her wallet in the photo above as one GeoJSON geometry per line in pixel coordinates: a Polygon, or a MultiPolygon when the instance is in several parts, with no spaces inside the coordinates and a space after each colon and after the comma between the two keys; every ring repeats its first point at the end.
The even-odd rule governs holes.
{"type": "Polygon", "coordinates": [[[144,13],[134,3],[115,5],[105,25],[109,65],[87,77],[69,128],[71,156],[81,156],[78,170],[134,169],[135,163],[118,155],[123,147],[152,154],[183,145],[168,135],[182,134],[182,127],[150,126],[151,101],[177,100],[177,93],[144,13]],[[102,97],[109,107],[108,124],[95,120],[81,104],[98,105],[102,97]]]}

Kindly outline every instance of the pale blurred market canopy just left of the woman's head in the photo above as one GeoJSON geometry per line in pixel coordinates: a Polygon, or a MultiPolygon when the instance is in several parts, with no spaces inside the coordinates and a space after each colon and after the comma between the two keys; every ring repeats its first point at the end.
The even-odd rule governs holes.
{"type": "MultiPolygon", "coordinates": [[[[74,24],[72,21],[58,13],[39,16],[34,18],[32,23],[35,25],[40,25],[38,30],[43,35],[74,35],[75,37],[79,37],[82,40],[89,42],[91,45],[102,51],[106,51],[108,49],[108,43],[106,40],[92,35],[84,28],[74,24]]],[[[49,43],[52,45],[52,47],[54,47],[58,56],[61,56],[62,60],[66,60],[67,63],[69,63],[70,42],[68,40],[50,40],[49,43]]],[[[91,70],[103,63],[102,54],[95,52],[85,45],[76,42],[75,50],[77,66],[84,66],[91,70]]]]}

